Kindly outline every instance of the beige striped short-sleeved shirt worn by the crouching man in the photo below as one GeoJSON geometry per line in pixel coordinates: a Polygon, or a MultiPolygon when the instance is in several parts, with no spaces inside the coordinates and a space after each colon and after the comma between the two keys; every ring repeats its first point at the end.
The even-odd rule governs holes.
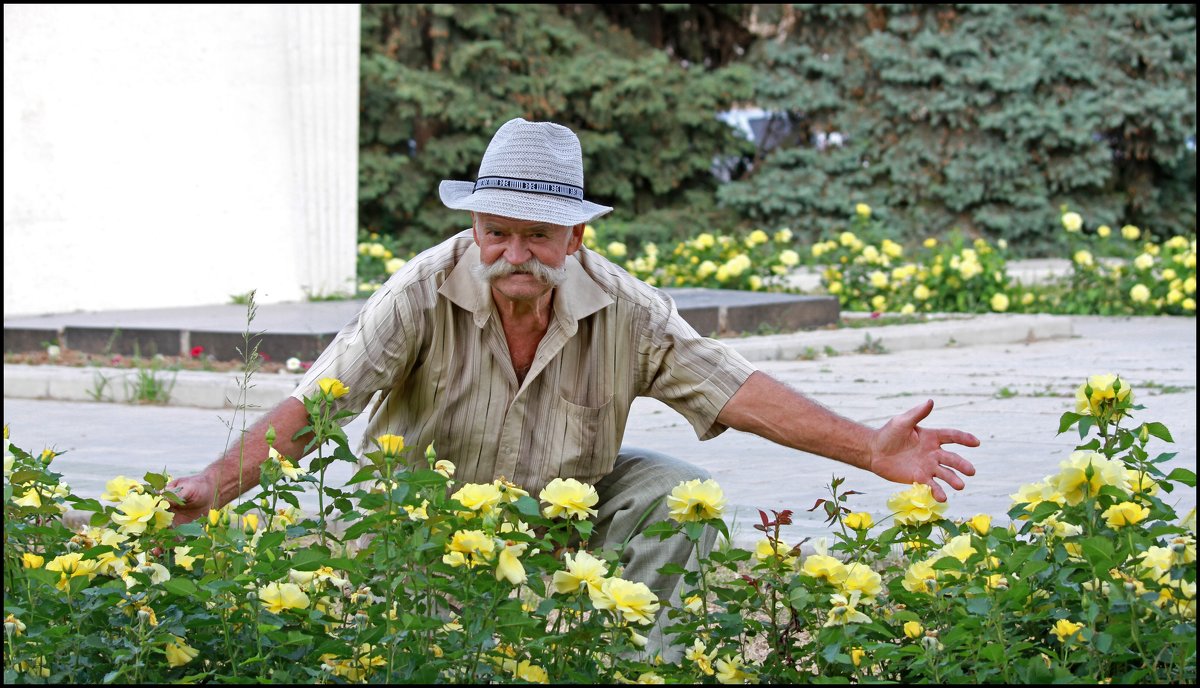
{"type": "Polygon", "coordinates": [[[402,435],[413,456],[433,443],[456,480],[504,477],[532,495],[554,478],[596,483],[612,471],[630,405],[659,399],[697,437],[716,421],[754,366],[700,336],[666,293],[587,249],[566,258],[553,315],[518,383],[491,289],[472,274],[470,231],[409,261],[364,305],[292,394],[319,394],[335,377],[337,409],[371,407],[371,438],[402,435]]]}

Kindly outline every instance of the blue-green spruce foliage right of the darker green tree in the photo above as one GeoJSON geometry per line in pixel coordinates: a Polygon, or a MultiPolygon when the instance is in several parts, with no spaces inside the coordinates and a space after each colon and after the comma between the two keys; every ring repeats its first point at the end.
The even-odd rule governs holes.
{"type": "Polygon", "coordinates": [[[865,202],[896,240],[956,227],[1021,255],[1061,251],[1063,203],[1195,232],[1194,6],[756,10],[755,98],[792,128],[719,191],[744,216],[811,239],[865,202]]]}

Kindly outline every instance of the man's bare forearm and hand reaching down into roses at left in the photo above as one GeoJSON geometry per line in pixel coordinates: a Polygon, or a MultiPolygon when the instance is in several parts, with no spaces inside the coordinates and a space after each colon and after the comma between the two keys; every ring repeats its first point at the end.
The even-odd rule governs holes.
{"type": "Polygon", "coordinates": [[[224,456],[210,463],[200,473],[178,478],[167,484],[168,490],[184,499],[182,504],[176,504],[172,509],[175,511],[175,525],[206,516],[209,509],[218,509],[258,485],[259,466],[269,455],[264,437],[268,427],[272,425],[276,435],[275,450],[294,460],[302,456],[304,445],[312,435],[308,433],[300,439],[292,439],[292,436],[308,425],[308,413],[304,403],[289,396],[246,431],[245,443],[234,442],[224,456]]]}

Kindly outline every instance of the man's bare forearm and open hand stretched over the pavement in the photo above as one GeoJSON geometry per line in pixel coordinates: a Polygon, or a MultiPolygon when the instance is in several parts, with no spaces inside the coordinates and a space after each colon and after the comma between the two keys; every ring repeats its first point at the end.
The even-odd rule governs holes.
{"type": "Polygon", "coordinates": [[[938,502],[946,492],[935,480],[955,490],[959,473],[974,475],[974,466],[942,444],[978,447],[970,432],[920,427],[934,402],[901,413],[880,429],[838,415],[764,372],[755,372],[730,399],[716,420],[810,454],[835,459],[895,483],[924,483],[938,502]]]}

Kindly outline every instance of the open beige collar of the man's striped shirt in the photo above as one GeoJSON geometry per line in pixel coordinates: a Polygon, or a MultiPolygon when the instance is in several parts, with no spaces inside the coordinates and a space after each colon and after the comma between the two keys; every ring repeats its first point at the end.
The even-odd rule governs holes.
{"type": "MultiPolygon", "coordinates": [[[[450,271],[450,276],[438,288],[438,293],[469,311],[475,321],[475,327],[482,328],[492,316],[494,305],[492,304],[491,288],[472,274],[473,268],[479,262],[479,246],[472,243],[454,270],[450,271]]],[[[578,329],[581,319],[611,305],[613,300],[588,275],[578,258],[568,256],[564,264],[566,265],[566,281],[554,289],[551,307],[559,327],[568,336],[571,336],[578,329]]]]}

